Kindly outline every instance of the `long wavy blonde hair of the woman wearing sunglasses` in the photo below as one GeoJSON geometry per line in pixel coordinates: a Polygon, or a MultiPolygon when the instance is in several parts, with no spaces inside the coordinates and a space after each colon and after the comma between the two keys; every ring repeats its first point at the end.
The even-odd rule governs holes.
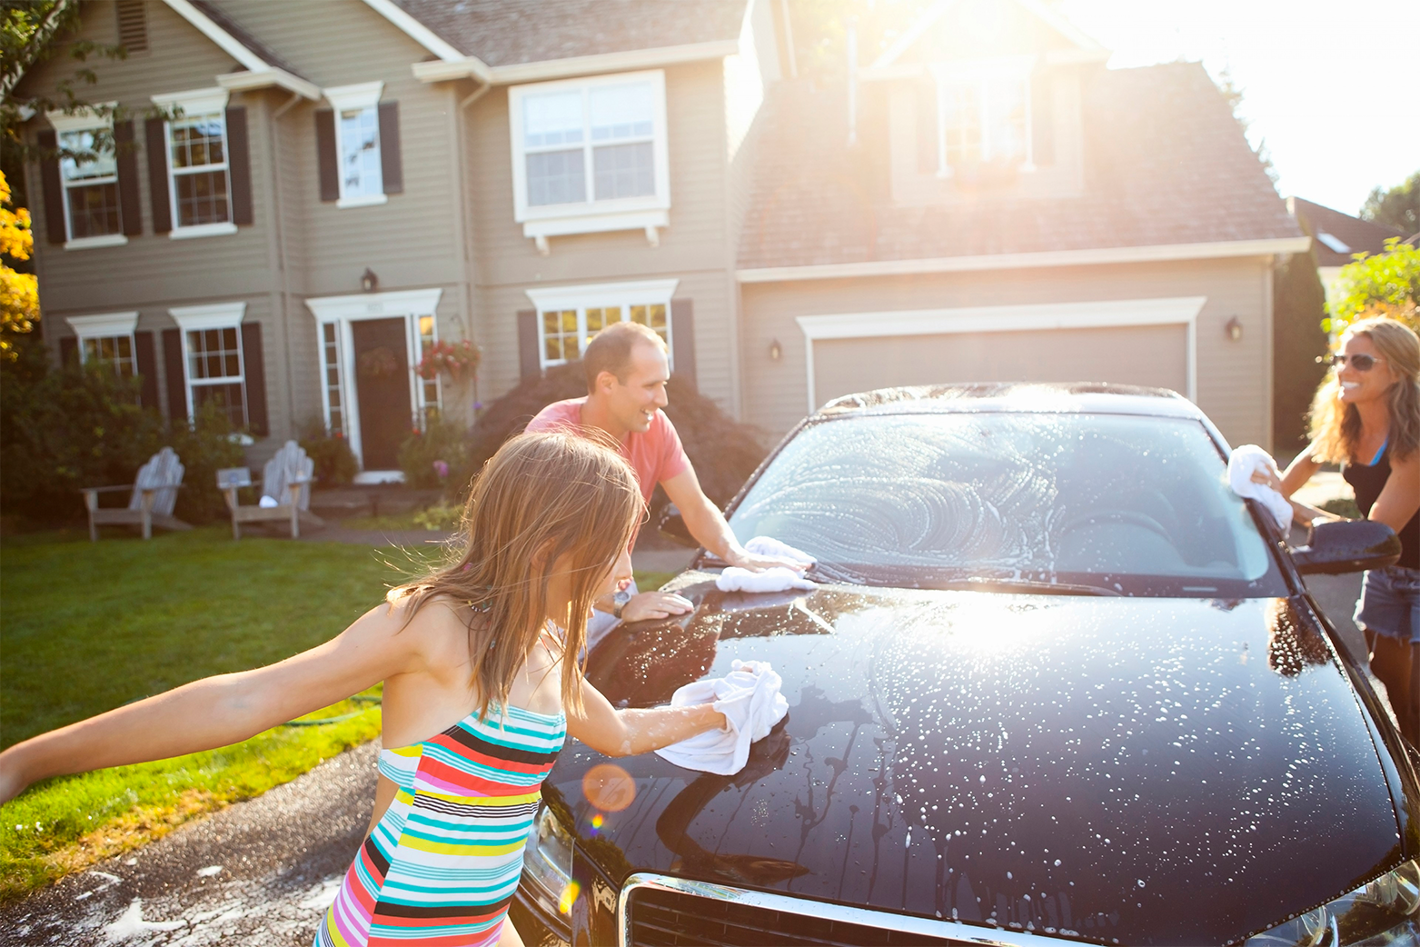
{"type": "MultiPolygon", "coordinates": [[[[1406,459],[1420,449],[1420,338],[1396,319],[1377,317],[1352,322],[1345,335],[1365,335],[1396,373],[1390,386],[1392,456],[1406,459]]],[[[1323,463],[1355,463],[1360,442],[1360,412],[1340,400],[1336,372],[1316,389],[1311,410],[1312,459],[1323,463]]]]}

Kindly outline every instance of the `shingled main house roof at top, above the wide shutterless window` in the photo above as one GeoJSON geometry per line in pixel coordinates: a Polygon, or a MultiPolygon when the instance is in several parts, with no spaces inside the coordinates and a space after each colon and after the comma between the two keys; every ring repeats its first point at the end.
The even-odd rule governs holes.
{"type": "Polygon", "coordinates": [[[530,62],[736,43],[748,0],[365,0],[444,61],[530,62]]]}

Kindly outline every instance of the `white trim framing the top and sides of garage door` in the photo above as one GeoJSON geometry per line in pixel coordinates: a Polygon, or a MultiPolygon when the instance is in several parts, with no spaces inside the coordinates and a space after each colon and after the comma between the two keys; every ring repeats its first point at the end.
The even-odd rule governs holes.
{"type": "Polygon", "coordinates": [[[951,310],[895,310],[795,317],[807,342],[808,413],[818,410],[814,392],[814,342],[892,335],[953,335],[961,332],[1028,332],[1032,329],[1100,329],[1135,325],[1186,325],[1189,400],[1197,400],[1198,314],[1204,295],[1156,300],[1100,300],[1044,305],[970,305],[951,310]]]}

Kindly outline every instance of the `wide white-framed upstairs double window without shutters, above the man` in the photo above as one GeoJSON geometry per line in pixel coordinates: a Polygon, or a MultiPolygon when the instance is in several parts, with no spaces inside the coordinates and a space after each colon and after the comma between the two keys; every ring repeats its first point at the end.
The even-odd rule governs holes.
{"type": "Polygon", "coordinates": [[[514,203],[527,236],[665,226],[665,74],[520,85],[508,101],[514,203]],[[596,216],[612,219],[569,223],[596,216]],[[552,220],[564,223],[538,224],[552,220]]]}

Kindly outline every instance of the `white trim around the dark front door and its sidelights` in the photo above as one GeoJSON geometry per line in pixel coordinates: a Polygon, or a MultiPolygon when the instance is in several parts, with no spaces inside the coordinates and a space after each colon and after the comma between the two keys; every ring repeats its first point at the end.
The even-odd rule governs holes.
{"type": "MultiPolygon", "coordinates": [[[[351,322],[365,319],[405,319],[405,349],[409,358],[409,405],[417,410],[419,381],[415,368],[419,365],[419,317],[437,315],[439,300],[443,288],[430,290],[392,290],[388,292],[356,292],[354,295],[327,295],[305,300],[305,307],[315,317],[317,352],[321,355],[321,372],[325,372],[325,339],[321,338],[321,327],[334,322],[339,332],[341,405],[345,407],[346,440],[351,451],[365,467],[365,453],[359,433],[359,399],[355,396],[355,339],[351,332],[351,322]]],[[[331,402],[325,396],[325,381],[321,379],[321,412],[325,417],[325,429],[331,427],[331,402]]],[[[373,474],[376,471],[364,471],[373,474]]],[[[383,473],[383,471],[379,471],[383,473]]],[[[396,471],[392,471],[396,473],[396,471]]]]}

